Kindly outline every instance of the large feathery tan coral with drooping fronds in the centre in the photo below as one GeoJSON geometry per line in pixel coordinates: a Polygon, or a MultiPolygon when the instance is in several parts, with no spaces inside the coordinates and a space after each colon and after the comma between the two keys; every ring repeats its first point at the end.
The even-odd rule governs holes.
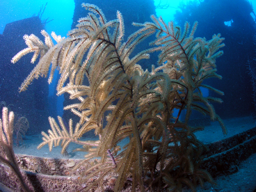
{"type": "Polygon", "coordinates": [[[200,90],[204,87],[223,95],[203,82],[221,78],[215,60],[223,54],[219,49],[224,46],[224,38],[219,34],[210,41],[194,38],[197,22],[191,30],[185,23],[182,30],[174,22],[165,23],[152,15],[152,22],[133,23],[141,28],[123,42],[125,28],[119,11],[117,19],[108,21],[96,5],[83,3],[82,7],[89,13],[79,19],[67,38],[52,33],[57,41],[53,45],[45,31],[45,44],[26,36],[28,48],[12,60],[35,52],[35,61],[41,54],[20,91],[26,90],[34,78],[46,77],[51,66],[49,83],[57,68],[61,74],[58,95],[69,93],[69,99],[77,100],[64,108],[80,118],[75,128],[72,120],[67,128],[60,117],[59,125],[49,117],[51,130],[48,134],[42,132],[43,142],[38,148],[48,144],[51,151],[53,145],[61,143],[64,153],[70,142],[82,145],[77,151],[88,154],[74,169],[100,158],[84,172],[87,179],[100,175],[87,189],[97,184],[103,189],[102,178],[109,173],[118,175],[115,192],[122,189],[128,177],[132,177],[133,191],[136,187],[141,191],[160,190],[164,183],[179,190],[182,184],[193,188],[193,181],[211,181],[198,166],[203,144],[194,133],[202,128],[190,127],[188,120],[192,110],[197,110],[218,120],[225,133],[211,104],[222,100],[203,97],[200,90]],[[152,48],[133,54],[136,46],[153,34],[156,38],[150,43],[152,48]],[[154,51],[160,51],[159,66],[144,71],[138,61],[149,59],[154,51]],[[173,115],[174,109],[179,111],[177,116],[173,115]],[[181,121],[183,110],[186,116],[181,121]],[[95,130],[99,140],[81,141],[79,138],[90,130],[95,130]],[[121,141],[126,142],[125,146],[119,146],[121,141]]]}

